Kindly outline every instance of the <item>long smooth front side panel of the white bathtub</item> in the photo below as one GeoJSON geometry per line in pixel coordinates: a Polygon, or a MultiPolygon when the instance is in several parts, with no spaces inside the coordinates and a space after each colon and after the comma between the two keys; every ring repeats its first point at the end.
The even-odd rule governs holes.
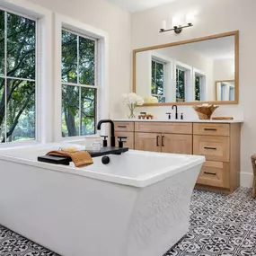
{"type": "Polygon", "coordinates": [[[3,160],[0,166],[0,224],[62,256],[126,255],[137,188],[3,160]]]}

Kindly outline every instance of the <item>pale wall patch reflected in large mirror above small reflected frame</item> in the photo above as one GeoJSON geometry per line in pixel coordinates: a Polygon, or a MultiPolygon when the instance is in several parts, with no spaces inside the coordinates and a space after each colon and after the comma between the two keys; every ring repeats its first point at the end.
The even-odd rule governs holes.
{"type": "Polygon", "coordinates": [[[234,58],[214,61],[214,81],[234,80],[234,58]]]}

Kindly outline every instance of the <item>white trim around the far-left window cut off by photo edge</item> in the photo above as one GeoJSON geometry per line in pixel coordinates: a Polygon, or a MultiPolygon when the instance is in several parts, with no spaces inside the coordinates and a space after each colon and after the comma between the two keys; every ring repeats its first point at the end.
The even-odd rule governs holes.
{"type": "Polygon", "coordinates": [[[52,141],[52,13],[23,0],[0,0],[5,11],[38,19],[36,140],[4,143],[0,147],[31,145],[52,141]]]}

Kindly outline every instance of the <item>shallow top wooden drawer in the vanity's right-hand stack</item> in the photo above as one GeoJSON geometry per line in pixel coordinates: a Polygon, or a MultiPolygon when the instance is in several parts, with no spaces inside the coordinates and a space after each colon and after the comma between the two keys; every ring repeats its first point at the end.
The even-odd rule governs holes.
{"type": "Polygon", "coordinates": [[[229,136],[229,124],[194,123],[193,133],[196,135],[229,136]]]}

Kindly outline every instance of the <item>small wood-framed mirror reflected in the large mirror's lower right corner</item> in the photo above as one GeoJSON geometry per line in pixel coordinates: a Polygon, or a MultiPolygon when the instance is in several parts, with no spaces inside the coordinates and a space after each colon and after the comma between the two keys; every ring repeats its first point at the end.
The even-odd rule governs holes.
{"type": "Polygon", "coordinates": [[[234,101],[234,80],[216,81],[216,101],[234,101]]]}

